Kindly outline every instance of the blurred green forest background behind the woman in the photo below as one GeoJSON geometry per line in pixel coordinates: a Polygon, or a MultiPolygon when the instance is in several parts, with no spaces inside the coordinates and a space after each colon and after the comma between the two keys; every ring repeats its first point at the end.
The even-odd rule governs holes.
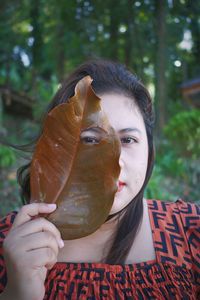
{"type": "MultiPolygon", "coordinates": [[[[156,163],[146,197],[198,202],[200,1],[1,0],[0,136],[31,142],[60,82],[96,57],[126,64],[152,95],[156,163]]],[[[22,205],[16,171],[30,157],[0,145],[0,216],[22,205]]]]}

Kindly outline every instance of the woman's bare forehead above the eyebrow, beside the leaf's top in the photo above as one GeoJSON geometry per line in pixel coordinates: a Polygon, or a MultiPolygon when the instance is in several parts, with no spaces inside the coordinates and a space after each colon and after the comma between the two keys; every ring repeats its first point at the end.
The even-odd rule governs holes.
{"type": "Polygon", "coordinates": [[[108,116],[111,126],[120,130],[129,127],[144,127],[144,121],[134,99],[121,94],[103,94],[101,107],[108,116]]]}

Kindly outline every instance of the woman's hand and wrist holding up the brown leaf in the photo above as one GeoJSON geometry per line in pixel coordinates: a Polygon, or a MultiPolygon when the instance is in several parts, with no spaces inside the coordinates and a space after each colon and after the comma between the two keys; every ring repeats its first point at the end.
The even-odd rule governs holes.
{"type": "Polygon", "coordinates": [[[51,222],[33,217],[51,213],[55,208],[55,204],[32,203],[17,214],[3,243],[8,277],[4,293],[9,299],[43,299],[47,269],[57,262],[59,247],[64,243],[51,222]]]}

